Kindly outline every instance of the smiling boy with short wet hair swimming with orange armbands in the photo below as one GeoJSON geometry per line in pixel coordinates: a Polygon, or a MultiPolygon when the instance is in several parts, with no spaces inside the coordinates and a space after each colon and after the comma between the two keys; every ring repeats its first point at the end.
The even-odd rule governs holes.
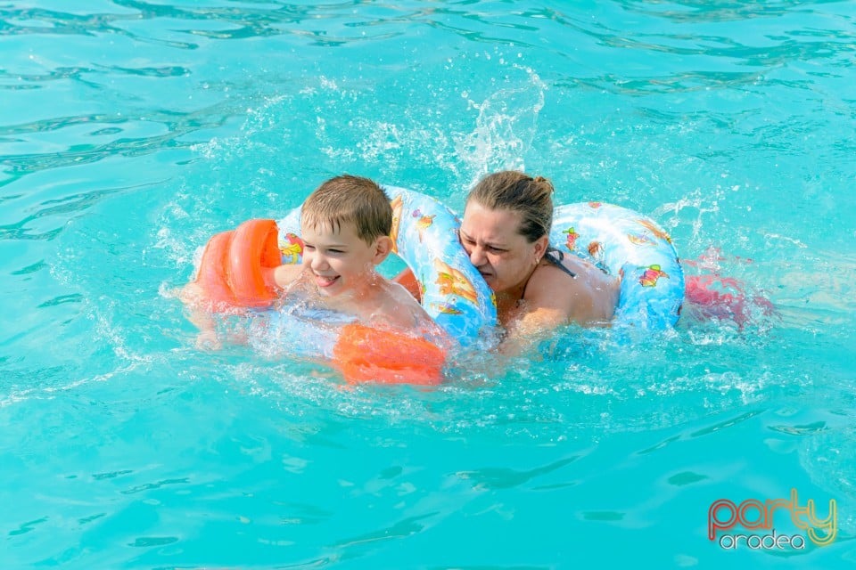
{"type": "MultiPolygon", "coordinates": [[[[377,183],[341,175],[322,183],[303,203],[301,265],[279,265],[272,281],[284,296],[301,292],[325,308],[357,317],[370,326],[392,327],[423,336],[439,328],[408,292],[375,271],[392,249],[392,208],[377,183]]],[[[201,314],[205,291],[195,282],[182,294],[196,310],[191,321],[202,330],[197,346],[219,346],[210,314],[201,314]]]]}

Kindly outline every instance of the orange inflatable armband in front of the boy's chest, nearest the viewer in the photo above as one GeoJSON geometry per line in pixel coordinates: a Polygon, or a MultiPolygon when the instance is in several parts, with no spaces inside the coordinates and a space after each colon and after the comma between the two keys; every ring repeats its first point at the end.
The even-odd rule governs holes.
{"type": "Polygon", "coordinates": [[[445,351],[424,338],[358,323],[342,327],[333,346],[333,364],[350,384],[437,385],[445,362],[445,351]]]}

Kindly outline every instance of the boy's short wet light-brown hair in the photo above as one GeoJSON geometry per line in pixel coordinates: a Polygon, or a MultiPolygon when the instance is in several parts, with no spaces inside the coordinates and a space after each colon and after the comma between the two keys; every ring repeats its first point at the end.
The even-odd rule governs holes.
{"type": "Polygon", "coordinates": [[[335,176],[309,194],[300,208],[300,224],[317,229],[327,225],[334,231],[354,224],[360,240],[371,245],[392,230],[392,207],[383,189],[369,178],[335,176]]]}

